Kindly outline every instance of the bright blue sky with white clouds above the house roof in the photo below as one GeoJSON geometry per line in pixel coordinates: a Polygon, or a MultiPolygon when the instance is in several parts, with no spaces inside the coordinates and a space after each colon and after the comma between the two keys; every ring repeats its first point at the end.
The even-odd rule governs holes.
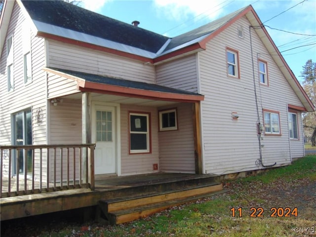
{"type": "Polygon", "coordinates": [[[301,82],[302,67],[316,62],[316,0],[81,0],[79,6],[172,38],[250,4],[301,82]]]}

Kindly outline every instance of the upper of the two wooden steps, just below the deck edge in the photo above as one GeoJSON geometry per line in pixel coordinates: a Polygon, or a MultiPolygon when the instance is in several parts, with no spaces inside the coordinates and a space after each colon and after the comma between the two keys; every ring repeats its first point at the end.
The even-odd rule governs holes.
{"type": "Polygon", "coordinates": [[[197,186],[196,188],[187,188],[181,190],[171,190],[159,192],[156,194],[141,195],[134,197],[125,197],[118,199],[106,200],[105,204],[107,206],[106,212],[114,212],[123,209],[134,208],[142,205],[148,205],[163,201],[170,201],[178,198],[194,197],[203,194],[208,194],[211,192],[216,192],[222,190],[222,184],[214,185],[203,185],[197,186]]]}

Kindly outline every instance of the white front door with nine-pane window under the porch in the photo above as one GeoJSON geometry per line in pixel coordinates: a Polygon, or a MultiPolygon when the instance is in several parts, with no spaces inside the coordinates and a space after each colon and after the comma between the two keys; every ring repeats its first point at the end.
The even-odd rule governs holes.
{"type": "Polygon", "coordinates": [[[94,173],[116,173],[115,107],[95,105],[92,112],[92,142],[96,143],[94,173]]]}

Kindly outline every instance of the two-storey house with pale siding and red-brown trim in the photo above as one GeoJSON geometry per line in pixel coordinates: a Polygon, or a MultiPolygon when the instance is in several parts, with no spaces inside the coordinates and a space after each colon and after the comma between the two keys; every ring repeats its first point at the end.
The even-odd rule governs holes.
{"type": "MultiPolygon", "coordinates": [[[[95,143],[95,174],[118,176],[224,175],[304,156],[301,113],[315,107],[251,5],[174,38],[64,1],[3,9],[2,146],[95,143]]],[[[35,159],[39,176],[36,156],[16,157],[3,172],[35,159]]]]}

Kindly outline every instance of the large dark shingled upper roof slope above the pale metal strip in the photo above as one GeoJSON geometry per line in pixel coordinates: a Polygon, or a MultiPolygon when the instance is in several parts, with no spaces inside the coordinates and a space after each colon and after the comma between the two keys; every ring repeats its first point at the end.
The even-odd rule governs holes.
{"type": "Polygon", "coordinates": [[[36,21],[156,53],[169,39],[62,0],[22,0],[36,21]]]}

